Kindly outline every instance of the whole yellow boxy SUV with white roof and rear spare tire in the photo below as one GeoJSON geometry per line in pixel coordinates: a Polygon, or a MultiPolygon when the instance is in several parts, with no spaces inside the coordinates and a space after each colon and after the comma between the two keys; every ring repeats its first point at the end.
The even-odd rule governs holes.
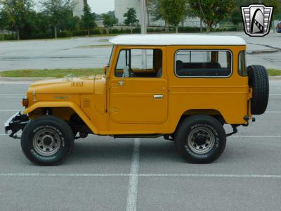
{"type": "Polygon", "coordinates": [[[240,37],[188,34],[122,35],[104,75],[34,82],[25,110],[5,124],[38,165],[58,165],[74,139],[88,134],[159,137],[175,142],[188,162],[216,160],[226,136],[254,121],[268,104],[268,74],[246,67],[240,37]],[[224,124],[233,132],[226,134],[224,124]]]}

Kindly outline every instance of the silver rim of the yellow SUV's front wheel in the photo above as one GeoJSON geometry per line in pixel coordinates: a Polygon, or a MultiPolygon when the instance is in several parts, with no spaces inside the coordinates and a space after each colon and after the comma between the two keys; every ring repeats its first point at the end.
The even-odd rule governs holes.
{"type": "Polygon", "coordinates": [[[39,155],[51,156],[60,149],[61,139],[53,129],[40,129],[34,135],[33,146],[39,155]]]}

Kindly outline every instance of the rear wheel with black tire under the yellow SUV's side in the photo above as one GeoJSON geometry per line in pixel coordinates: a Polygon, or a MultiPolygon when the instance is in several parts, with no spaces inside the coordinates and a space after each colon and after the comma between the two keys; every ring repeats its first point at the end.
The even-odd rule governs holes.
{"type": "Polygon", "coordinates": [[[226,132],[216,118],[194,115],[179,124],[175,141],[178,153],[184,160],[210,163],[219,158],[226,148],[226,132]]]}

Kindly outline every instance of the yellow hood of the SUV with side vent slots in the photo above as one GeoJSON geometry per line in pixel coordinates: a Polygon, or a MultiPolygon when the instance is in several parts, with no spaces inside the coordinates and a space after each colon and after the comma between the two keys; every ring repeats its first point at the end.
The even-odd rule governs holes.
{"type": "Polygon", "coordinates": [[[27,93],[31,94],[36,91],[37,94],[93,94],[96,82],[105,84],[105,76],[44,79],[31,84],[27,93]]]}

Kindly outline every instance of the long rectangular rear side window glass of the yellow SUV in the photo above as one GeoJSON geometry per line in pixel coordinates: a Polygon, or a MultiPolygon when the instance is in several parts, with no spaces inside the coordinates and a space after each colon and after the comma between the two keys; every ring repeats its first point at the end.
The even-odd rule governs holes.
{"type": "Polygon", "coordinates": [[[230,51],[181,50],[175,55],[175,72],[178,77],[228,77],[232,60],[230,51]]]}

